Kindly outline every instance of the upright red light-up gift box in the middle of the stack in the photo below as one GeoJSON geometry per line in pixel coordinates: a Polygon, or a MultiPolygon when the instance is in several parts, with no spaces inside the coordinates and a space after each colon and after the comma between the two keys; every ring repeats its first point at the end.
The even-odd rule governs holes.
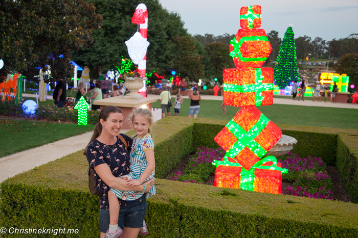
{"type": "Polygon", "coordinates": [[[274,101],[273,68],[223,70],[223,103],[235,107],[272,105],[274,101]]]}

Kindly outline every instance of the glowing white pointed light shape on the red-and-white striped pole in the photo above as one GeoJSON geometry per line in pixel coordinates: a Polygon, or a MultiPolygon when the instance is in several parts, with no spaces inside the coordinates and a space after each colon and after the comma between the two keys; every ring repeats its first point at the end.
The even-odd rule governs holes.
{"type": "Polygon", "coordinates": [[[147,53],[149,42],[139,32],[136,32],[125,44],[127,45],[130,59],[138,65],[147,53]]]}

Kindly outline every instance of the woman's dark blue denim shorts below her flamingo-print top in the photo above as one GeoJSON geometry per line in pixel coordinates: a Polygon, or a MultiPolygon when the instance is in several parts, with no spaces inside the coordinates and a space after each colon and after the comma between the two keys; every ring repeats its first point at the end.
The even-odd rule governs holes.
{"type": "MultiPolygon", "coordinates": [[[[124,227],[141,228],[143,227],[143,220],[147,210],[147,200],[145,194],[134,201],[122,201],[119,209],[118,226],[122,229],[124,227]]],[[[100,231],[106,233],[109,228],[109,210],[99,210],[99,228],[100,231]]]]}

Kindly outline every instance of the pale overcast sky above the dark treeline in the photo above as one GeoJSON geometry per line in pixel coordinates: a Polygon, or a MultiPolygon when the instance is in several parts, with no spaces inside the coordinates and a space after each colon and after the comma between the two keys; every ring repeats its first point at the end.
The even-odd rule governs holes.
{"type": "MultiPolygon", "coordinates": [[[[282,38],[293,24],[295,38],[307,35],[324,40],[358,33],[358,0],[159,0],[168,11],[181,15],[192,35],[236,34],[240,29],[240,8],[260,5],[266,33],[278,31],[282,38]]],[[[150,9],[148,9],[150,11],[150,9]]]]}

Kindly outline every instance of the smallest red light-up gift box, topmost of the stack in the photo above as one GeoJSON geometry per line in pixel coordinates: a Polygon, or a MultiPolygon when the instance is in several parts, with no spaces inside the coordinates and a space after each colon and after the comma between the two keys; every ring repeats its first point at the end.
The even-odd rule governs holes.
{"type": "Polygon", "coordinates": [[[240,27],[243,29],[261,27],[261,6],[242,7],[240,9],[240,27]]]}

